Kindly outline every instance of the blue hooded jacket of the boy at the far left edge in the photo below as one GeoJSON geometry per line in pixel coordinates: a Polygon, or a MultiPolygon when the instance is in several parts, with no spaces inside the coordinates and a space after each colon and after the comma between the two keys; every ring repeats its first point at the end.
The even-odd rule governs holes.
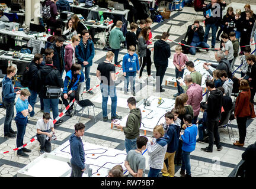
{"type": "Polygon", "coordinates": [[[7,102],[14,102],[16,93],[14,93],[14,88],[12,87],[12,80],[5,76],[2,80],[2,97],[7,102]]]}

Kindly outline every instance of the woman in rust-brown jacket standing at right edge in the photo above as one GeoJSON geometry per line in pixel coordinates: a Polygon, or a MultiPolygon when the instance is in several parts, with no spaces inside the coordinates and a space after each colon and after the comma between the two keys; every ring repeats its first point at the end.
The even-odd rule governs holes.
{"type": "Polygon", "coordinates": [[[235,146],[244,146],[245,136],[247,133],[247,118],[251,116],[250,99],[251,90],[247,80],[242,79],[240,81],[239,90],[235,104],[235,119],[238,123],[239,141],[233,143],[235,146]]]}

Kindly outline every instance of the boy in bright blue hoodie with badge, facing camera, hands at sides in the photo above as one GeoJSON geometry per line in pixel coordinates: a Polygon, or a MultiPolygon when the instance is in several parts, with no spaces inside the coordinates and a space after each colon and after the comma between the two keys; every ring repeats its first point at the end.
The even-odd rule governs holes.
{"type": "Polygon", "coordinates": [[[131,84],[131,91],[135,96],[135,76],[136,72],[139,73],[139,58],[135,53],[135,46],[130,45],[128,53],[123,57],[123,74],[126,79],[124,83],[124,94],[128,92],[129,80],[131,84]],[[133,82],[133,84],[132,84],[133,82]]]}

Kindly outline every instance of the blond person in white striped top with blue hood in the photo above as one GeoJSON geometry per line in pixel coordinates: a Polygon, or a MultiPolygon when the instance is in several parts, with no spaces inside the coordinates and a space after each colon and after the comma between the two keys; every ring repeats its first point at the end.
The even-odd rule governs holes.
{"type": "Polygon", "coordinates": [[[158,177],[159,172],[164,168],[168,141],[169,136],[165,134],[162,125],[156,125],[153,128],[153,141],[147,143],[150,167],[148,177],[158,177]]]}

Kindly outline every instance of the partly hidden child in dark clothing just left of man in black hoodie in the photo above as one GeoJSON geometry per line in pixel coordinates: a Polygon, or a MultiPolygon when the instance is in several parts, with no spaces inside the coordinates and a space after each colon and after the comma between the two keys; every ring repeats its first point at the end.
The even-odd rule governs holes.
{"type": "Polygon", "coordinates": [[[199,126],[198,126],[199,138],[197,139],[197,142],[203,144],[204,143],[203,131],[204,131],[204,129],[207,128],[207,125],[206,125],[206,123],[207,123],[207,103],[201,102],[200,109],[201,109],[201,112],[203,112],[203,118],[197,121],[197,123],[199,124],[199,126]]]}

